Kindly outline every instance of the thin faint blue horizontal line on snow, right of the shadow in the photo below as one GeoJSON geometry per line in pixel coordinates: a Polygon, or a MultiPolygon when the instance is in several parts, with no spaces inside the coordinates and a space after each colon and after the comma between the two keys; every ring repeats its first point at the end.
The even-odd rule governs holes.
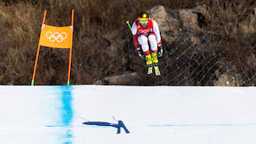
{"type": "Polygon", "coordinates": [[[157,124],[150,127],[234,127],[234,126],[256,126],[256,123],[244,124],[157,124]]]}

